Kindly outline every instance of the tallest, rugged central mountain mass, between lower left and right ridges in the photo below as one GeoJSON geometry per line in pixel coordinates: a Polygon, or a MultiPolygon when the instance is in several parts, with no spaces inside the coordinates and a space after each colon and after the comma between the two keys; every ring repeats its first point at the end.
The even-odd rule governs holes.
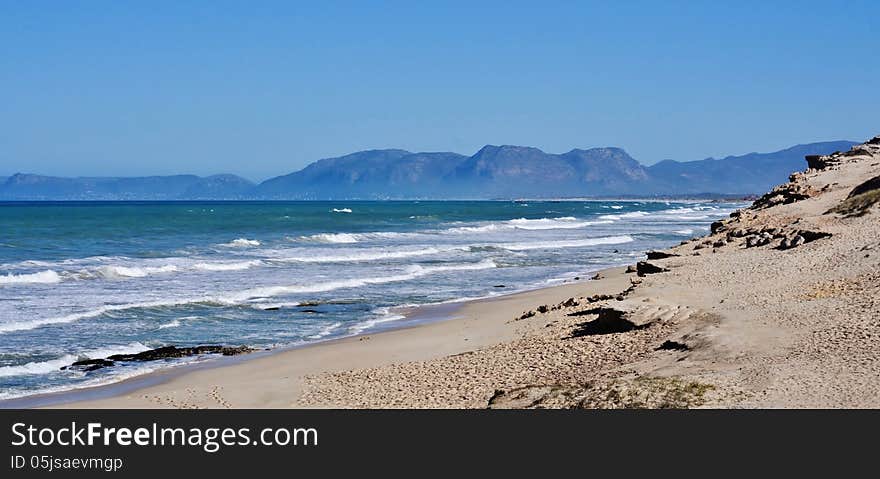
{"type": "Polygon", "coordinates": [[[265,199],[514,198],[635,193],[644,168],[619,148],[561,155],[485,146],[473,156],[370,150],[320,160],[264,181],[265,199]]]}

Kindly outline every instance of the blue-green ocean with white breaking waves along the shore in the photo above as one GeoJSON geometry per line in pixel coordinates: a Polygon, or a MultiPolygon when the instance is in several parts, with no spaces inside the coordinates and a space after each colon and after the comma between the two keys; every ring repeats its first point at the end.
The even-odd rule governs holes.
{"type": "Polygon", "coordinates": [[[0,399],[209,358],[61,370],[165,345],[295,346],[401,306],[586,279],[742,207],[650,201],[0,203],[0,399]]]}

